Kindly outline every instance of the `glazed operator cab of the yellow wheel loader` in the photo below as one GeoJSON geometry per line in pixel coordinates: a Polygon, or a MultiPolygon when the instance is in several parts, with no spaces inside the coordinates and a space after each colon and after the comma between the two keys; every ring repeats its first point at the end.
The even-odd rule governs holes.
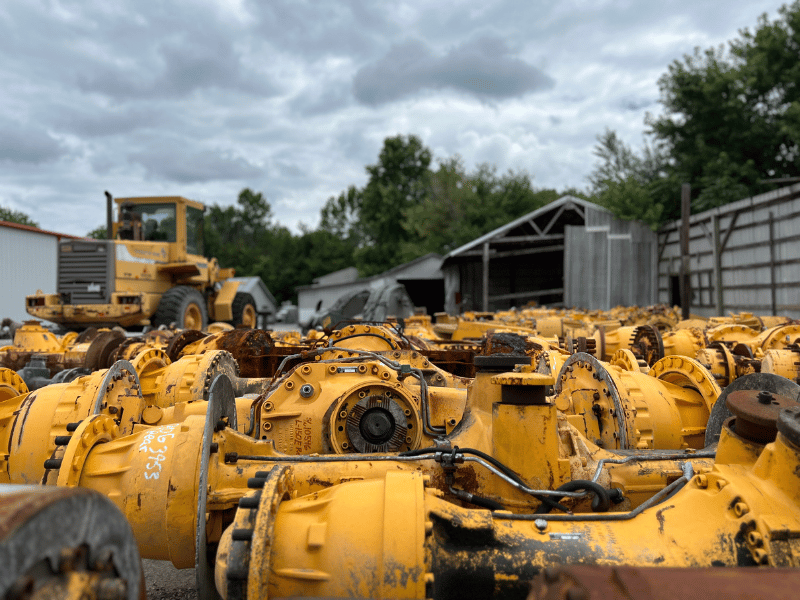
{"type": "Polygon", "coordinates": [[[115,198],[115,239],[170,244],[173,261],[203,256],[203,213],[199,202],[180,196],[115,198]]]}

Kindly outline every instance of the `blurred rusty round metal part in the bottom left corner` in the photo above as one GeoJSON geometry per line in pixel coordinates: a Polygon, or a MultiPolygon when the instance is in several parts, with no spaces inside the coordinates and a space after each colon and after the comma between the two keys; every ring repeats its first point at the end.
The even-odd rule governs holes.
{"type": "Polygon", "coordinates": [[[130,525],[110,500],[80,488],[0,486],[0,595],[144,597],[130,525]]]}

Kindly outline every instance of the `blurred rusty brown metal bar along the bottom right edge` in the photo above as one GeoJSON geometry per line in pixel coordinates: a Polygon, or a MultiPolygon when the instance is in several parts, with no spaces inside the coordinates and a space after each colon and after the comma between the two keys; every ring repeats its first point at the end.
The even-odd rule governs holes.
{"type": "Polygon", "coordinates": [[[547,567],[528,600],[783,600],[797,597],[800,571],[749,567],[547,567]]]}

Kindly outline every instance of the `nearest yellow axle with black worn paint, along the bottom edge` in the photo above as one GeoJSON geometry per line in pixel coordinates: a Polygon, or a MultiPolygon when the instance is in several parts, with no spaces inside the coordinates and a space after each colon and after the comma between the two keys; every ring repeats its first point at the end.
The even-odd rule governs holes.
{"type": "MultiPolygon", "coordinates": [[[[465,585],[470,597],[484,588],[505,596],[567,562],[796,568],[798,468],[798,449],[779,436],[755,464],[718,461],[669,502],[618,521],[542,515],[540,523],[536,515],[469,510],[439,498],[415,473],[344,483],[277,503],[269,540],[256,529],[250,542],[250,561],[268,548],[269,568],[259,563],[263,575],[247,597],[425,598],[464,593],[465,585]],[[353,526],[363,522],[381,525],[353,526]]],[[[218,566],[217,581],[234,566],[218,566]]]]}

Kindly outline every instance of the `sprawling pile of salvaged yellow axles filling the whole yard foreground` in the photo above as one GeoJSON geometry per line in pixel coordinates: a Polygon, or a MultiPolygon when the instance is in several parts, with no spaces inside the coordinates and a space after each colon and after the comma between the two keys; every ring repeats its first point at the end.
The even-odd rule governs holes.
{"type": "Polygon", "coordinates": [[[102,505],[132,537],[98,533],[86,558],[41,528],[51,553],[59,536],[73,548],[67,566],[33,569],[32,551],[3,593],[81,573],[87,594],[133,598],[139,555],[194,568],[202,598],[661,598],[675,582],[779,598],[799,582],[788,319],[40,329],[0,349],[0,479],[63,492],[33,488],[57,510],[102,505]],[[33,357],[48,372],[26,384],[14,369],[33,357]]]}

